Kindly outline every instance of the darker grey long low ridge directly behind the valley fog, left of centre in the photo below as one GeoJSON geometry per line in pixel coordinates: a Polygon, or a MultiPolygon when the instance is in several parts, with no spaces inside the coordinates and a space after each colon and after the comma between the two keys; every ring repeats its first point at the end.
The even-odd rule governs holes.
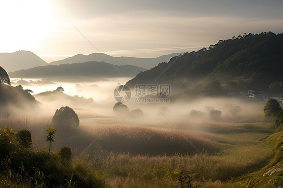
{"type": "Polygon", "coordinates": [[[61,65],[38,66],[26,70],[9,72],[10,77],[50,78],[50,77],[122,77],[135,76],[146,69],[133,65],[112,65],[105,62],[89,61],[61,65]]]}

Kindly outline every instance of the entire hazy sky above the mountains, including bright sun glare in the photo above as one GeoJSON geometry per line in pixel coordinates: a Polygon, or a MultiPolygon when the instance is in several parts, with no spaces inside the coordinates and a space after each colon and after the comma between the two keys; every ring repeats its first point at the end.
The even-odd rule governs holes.
{"type": "Polygon", "coordinates": [[[79,53],[158,57],[219,40],[283,33],[283,1],[1,0],[0,53],[46,62],[79,53]]]}

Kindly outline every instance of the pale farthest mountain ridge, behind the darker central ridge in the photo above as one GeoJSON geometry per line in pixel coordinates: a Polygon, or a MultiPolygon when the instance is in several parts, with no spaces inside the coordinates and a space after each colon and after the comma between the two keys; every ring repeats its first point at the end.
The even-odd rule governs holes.
{"type": "Polygon", "coordinates": [[[71,64],[71,63],[81,63],[88,61],[103,61],[106,63],[114,64],[114,65],[134,65],[138,67],[143,67],[150,69],[158,63],[168,62],[171,57],[175,55],[179,55],[183,53],[173,53],[169,55],[163,55],[157,58],[138,58],[138,57],[113,57],[104,53],[92,53],[89,55],[77,54],[72,57],[67,57],[62,60],[52,61],[50,65],[59,65],[59,64],[71,64]]]}

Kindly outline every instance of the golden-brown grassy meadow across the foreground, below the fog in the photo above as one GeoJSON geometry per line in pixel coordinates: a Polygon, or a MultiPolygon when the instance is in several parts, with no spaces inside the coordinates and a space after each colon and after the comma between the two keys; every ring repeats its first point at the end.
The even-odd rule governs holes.
{"type": "MultiPolygon", "coordinates": [[[[48,150],[51,117],[2,119],[31,131],[33,149],[48,150]]],[[[51,152],[72,149],[74,164],[85,161],[110,187],[241,187],[245,174],[274,157],[270,124],[175,121],[157,124],[81,124],[58,128],[51,152]],[[196,149],[197,148],[197,149],[196,149]],[[199,152],[200,151],[200,152],[199,152]]],[[[253,187],[253,186],[247,186],[253,187]]]]}

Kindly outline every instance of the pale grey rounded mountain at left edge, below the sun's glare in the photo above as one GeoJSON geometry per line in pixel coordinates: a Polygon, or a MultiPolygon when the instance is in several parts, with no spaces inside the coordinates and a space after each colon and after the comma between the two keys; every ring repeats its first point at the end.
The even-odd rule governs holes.
{"type": "Polygon", "coordinates": [[[48,63],[30,51],[0,53],[0,66],[7,72],[46,65],[48,63]]]}

